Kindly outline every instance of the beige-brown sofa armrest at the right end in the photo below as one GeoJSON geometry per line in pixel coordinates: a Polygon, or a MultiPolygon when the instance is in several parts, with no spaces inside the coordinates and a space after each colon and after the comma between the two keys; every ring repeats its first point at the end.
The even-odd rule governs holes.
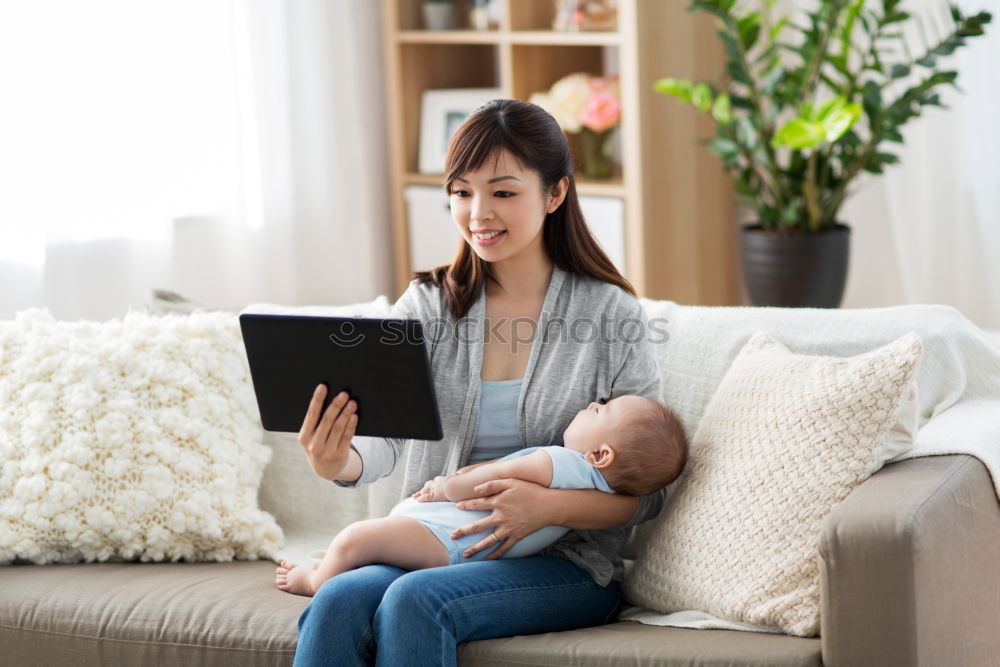
{"type": "Polygon", "coordinates": [[[959,454],[892,463],[823,523],[826,667],[996,664],[1000,503],[959,454]]]}

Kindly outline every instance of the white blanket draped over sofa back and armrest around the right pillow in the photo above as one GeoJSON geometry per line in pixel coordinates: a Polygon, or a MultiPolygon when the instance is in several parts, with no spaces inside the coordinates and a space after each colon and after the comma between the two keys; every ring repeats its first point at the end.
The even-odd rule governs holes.
{"type": "MultiPolygon", "coordinates": [[[[642,303],[650,318],[666,320],[669,340],[658,347],[663,400],[681,416],[689,435],[735,354],[755,331],[772,333],[795,352],[845,357],[916,331],[924,341],[918,377],[921,428],[914,446],[891,462],[970,454],[986,465],[1000,498],[1000,345],[954,308],[789,310],[679,306],[648,299],[642,303]]],[[[661,614],[626,606],[620,619],[681,628],[780,632],[698,610],[661,614]]]]}

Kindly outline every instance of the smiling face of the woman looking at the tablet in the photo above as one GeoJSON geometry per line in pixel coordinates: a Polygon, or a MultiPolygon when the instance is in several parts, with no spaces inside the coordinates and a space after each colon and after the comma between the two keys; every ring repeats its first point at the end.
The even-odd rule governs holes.
{"type": "Polygon", "coordinates": [[[537,172],[503,151],[499,160],[487,160],[451,184],[451,217],[477,255],[500,262],[541,245],[546,214],[566,196],[563,183],[568,180],[543,195],[537,172]]]}

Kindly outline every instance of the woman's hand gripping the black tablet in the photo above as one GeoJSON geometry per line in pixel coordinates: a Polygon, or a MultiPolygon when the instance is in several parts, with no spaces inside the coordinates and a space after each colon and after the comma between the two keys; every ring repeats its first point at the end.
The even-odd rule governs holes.
{"type": "Polygon", "coordinates": [[[325,396],[326,386],[317,386],[299,429],[299,444],[305,448],[313,471],[323,479],[333,480],[347,465],[351,453],[351,438],[358,423],[357,403],[348,400],[347,392],[342,391],[321,417],[325,396]]]}

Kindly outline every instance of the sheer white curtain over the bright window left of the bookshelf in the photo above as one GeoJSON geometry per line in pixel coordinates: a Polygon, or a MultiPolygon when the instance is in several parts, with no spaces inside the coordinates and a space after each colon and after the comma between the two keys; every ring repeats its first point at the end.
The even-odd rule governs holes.
{"type": "Polygon", "coordinates": [[[0,317],[388,293],[378,5],[0,5],[0,317]]]}

